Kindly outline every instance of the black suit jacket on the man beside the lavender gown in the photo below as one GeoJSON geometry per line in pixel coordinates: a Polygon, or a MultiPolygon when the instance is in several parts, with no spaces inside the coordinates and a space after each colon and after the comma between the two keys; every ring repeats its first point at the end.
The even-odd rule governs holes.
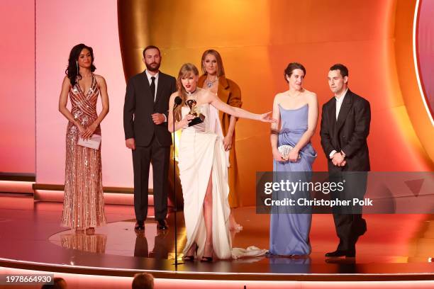
{"type": "Polygon", "coordinates": [[[371,123],[369,101],[348,89],[336,120],[336,99],[323,105],[321,117],[321,146],[328,159],[329,171],[369,171],[367,136],[371,123]],[[347,164],[335,166],[329,157],[335,149],[345,152],[347,164]]]}

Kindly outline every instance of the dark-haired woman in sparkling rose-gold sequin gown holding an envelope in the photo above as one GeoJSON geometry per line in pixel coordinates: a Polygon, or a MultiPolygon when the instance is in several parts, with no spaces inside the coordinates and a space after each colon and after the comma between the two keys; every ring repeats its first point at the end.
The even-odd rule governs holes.
{"type": "Polygon", "coordinates": [[[69,120],[66,134],[65,199],[62,226],[76,230],[106,223],[101,174],[101,146],[91,149],[77,145],[79,136],[89,139],[101,135],[100,123],[109,113],[106,81],[94,74],[94,53],[84,44],[75,45],[70,54],[67,76],[63,80],[59,111],[69,120]],[[69,99],[71,111],[67,108],[69,99]],[[101,95],[102,110],[96,113],[101,95]]]}

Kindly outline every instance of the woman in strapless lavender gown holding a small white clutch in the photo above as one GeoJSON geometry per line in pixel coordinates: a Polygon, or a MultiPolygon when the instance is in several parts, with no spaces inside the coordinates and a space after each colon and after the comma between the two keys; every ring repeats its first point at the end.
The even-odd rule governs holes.
{"type": "MultiPolygon", "coordinates": [[[[292,62],[286,67],[284,77],[289,90],[274,97],[271,145],[274,158],[274,171],[299,172],[285,174],[290,181],[308,181],[316,152],[311,145],[318,120],[316,94],[303,88],[306,69],[292,62]],[[278,147],[293,147],[288,155],[282,155],[278,147]],[[304,173],[307,172],[308,174],[304,173]]],[[[278,178],[282,176],[276,174],[278,178]]],[[[273,192],[273,198],[308,198],[308,192],[273,192]]],[[[301,256],[311,253],[309,232],[312,215],[298,214],[294,208],[272,208],[269,237],[269,253],[279,256],[301,256]]]]}

